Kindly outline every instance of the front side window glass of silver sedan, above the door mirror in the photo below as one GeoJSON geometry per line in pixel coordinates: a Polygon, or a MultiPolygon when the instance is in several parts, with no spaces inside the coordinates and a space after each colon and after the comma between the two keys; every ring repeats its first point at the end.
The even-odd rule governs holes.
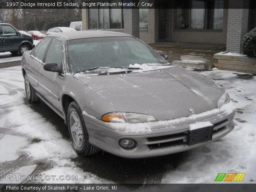
{"type": "Polygon", "coordinates": [[[50,47],[47,51],[45,63],[56,63],[61,66],[62,62],[62,46],[61,42],[57,39],[53,39],[50,47]]]}

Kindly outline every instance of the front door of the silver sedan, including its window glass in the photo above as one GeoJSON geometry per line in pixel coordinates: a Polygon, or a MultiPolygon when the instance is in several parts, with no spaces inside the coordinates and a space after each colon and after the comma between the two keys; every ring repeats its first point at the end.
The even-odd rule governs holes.
{"type": "MultiPolygon", "coordinates": [[[[44,59],[44,64],[52,62],[63,68],[62,44],[60,40],[56,38],[52,40],[44,59]]],[[[61,112],[62,105],[60,102],[60,92],[62,90],[63,74],[49,72],[42,67],[39,69],[38,81],[41,96],[61,112]]]]}

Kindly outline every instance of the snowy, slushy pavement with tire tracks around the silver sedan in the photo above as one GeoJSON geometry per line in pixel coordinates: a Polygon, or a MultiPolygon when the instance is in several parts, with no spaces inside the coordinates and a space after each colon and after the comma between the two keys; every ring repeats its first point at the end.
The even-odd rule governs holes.
{"type": "MultiPolygon", "coordinates": [[[[192,69],[190,69],[192,70],[192,69]]],[[[148,159],[108,153],[78,156],[67,127],[46,104],[29,104],[21,67],[0,69],[0,183],[6,174],[78,176],[44,183],[214,183],[218,173],[245,173],[256,183],[256,77],[223,70],[201,74],[220,84],[237,108],[234,130],[217,142],[194,150],[148,159]]]]}

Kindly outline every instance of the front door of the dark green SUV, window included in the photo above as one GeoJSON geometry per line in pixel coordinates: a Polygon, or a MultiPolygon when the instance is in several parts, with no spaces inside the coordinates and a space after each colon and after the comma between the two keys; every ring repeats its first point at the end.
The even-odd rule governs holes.
{"type": "Polygon", "coordinates": [[[10,25],[2,25],[2,42],[4,52],[17,51],[21,41],[22,39],[20,38],[20,34],[16,29],[10,25]]]}

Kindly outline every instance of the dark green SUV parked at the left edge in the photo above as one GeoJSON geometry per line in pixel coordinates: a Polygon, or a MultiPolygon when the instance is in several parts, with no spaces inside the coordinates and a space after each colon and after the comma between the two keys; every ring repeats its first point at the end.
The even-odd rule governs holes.
{"type": "Polygon", "coordinates": [[[0,23],[0,52],[10,51],[12,54],[24,54],[34,48],[33,38],[21,34],[8,23],[0,23]]]}

